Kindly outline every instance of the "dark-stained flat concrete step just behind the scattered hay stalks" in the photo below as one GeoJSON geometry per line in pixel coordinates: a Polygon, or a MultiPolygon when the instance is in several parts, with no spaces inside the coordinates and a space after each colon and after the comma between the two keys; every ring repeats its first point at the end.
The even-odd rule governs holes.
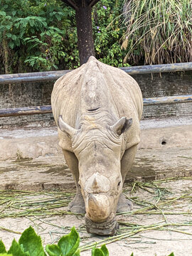
{"type": "MultiPolygon", "coordinates": [[[[192,175],[191,148],[139,149],[126,181],[153,181],[192,175]],[[171,159],[171,160],[170,160],[171,159]]],[[[73,189],[75,183],[63,155],[0,161],[0,189],[39,191],[73,189]]]]}

